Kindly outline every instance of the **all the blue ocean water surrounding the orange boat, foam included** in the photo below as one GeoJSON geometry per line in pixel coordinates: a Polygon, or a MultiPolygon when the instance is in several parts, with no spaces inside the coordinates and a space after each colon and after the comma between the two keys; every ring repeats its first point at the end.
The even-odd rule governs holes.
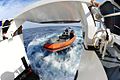
{"type": "Polygon", "coordinates": [[[45,42],[62,33],[64,26],[41,27],[23,30],[24,44],[33,70],[42,80],[74,80],[82,53],[82,30],[71,26],[77,36],[71,47],[51,53],[43,48],[45,42]]]}

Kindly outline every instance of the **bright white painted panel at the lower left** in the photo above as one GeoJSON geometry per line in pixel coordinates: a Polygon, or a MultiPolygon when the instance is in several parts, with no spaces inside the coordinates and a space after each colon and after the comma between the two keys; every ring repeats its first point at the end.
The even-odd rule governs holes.
{"type": "Polygon", "coordinates": [[[9,72],[11,74],[15,74],[14,77],[20,74],[24,70],[24,66],[22,64],[21,58],[25,57],[28,62],[28,58],[26,56],[26,52],[23,45],[22,34],[17,35],[11,39],[6,39],[4,41],[1,41],[0,54],[1,54],[0,56],[1,79],[2,77],[6,77],[6,80],[10,80],[9,78],[11,76],[9,77],[8,74],[9,72]]]}

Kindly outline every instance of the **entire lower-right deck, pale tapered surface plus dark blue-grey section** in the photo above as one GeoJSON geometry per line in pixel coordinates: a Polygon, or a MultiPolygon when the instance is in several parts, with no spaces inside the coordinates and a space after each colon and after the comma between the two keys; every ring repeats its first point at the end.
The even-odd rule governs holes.
{"type": "Polygon", "coordinates": [[[120,80],[120,50],[108,47],[104,59],[99,50],[83,50],[75,80],[120,80]]]}

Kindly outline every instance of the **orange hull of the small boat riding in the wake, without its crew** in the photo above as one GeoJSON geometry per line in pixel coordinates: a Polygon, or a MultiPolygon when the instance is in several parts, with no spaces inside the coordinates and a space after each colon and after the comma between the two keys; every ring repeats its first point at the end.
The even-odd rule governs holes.
{"type": "Polygon", "coordinates": [[[50,52],[56,52],[69,47],[75,41],[76,36],[74,35],[72,38],[69,38],[67,40],[57,39],[57,38],[55,39],[52,38],[52,39],[55,40],[54,43],[46,43],[44,45],[44,48],[50,52]]]}

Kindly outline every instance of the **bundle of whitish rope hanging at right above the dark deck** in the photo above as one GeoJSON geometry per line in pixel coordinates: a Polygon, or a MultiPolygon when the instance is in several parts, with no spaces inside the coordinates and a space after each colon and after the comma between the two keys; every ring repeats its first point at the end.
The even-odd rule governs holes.
{"type": "Polygon", "coordinates": [[[100,50],[100,53],[102,54],[102,59],[104,59],[106,48],[109,43],[109,35],[108,35],[107,30],[97,31],[94,34],[92,41],[93,41],[93,46],[100,50]],[[98,35],[99,33],[100,35],[98,35]]]}

